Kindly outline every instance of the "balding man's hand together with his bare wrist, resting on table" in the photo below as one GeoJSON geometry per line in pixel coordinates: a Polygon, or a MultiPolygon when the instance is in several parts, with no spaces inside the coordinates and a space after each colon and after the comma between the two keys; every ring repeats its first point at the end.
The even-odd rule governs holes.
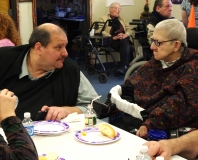
{"type": "Polygon", "coordinates": [[[43,106],[41,108],[42,112],[47,111],[47,116],[45,120],[61,120],[62,118],[67,117],[70,113],[77,112],[78,114],[82,113],[77,107],[57,107],[57,106],[43,106]]]}

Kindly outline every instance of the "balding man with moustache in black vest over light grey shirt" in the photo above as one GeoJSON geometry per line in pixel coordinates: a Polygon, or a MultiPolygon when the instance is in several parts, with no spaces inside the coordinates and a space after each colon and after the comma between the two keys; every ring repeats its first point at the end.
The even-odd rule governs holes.
{"type": "Polygon", "coordinates": [[[8,88],[19,98],[16,115],[48,111],[46,120],[84,113],[97,97],[79,66],[68,57],[66,33],[52,23],[35,28],[29,44],[0,48],[0,89],[8,88]],[[9,61],[8,61],[9,57],[9,61]]]}

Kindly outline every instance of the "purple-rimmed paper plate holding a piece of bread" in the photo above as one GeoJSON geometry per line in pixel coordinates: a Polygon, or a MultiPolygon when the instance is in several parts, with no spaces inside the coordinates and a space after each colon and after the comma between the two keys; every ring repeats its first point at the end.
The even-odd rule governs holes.
{"type": "Polygon", "coordinates": [[[77,140],[83,143],[88,144],[107,144],[112,143],[120,139],[120,133],[117,132],[117,136],[114,139],[110,139],[106,136],[103,136],[98,128],[85,128],[81,131],[77,131],[75,134],[77,140]],[[86,132],[84,135],[82,132],[86,132]]]}

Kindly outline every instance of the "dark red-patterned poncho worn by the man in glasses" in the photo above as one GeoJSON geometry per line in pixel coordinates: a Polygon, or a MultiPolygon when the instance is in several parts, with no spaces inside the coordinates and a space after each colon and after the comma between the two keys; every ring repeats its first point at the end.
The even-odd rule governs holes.
{"type": "Polygon", "coordinates": [[[148,129],[198,128],[198,51],[186,49],[163,69],[152,58],[126,81],[134,87],[135,103],[148,111],[148,129]]]}

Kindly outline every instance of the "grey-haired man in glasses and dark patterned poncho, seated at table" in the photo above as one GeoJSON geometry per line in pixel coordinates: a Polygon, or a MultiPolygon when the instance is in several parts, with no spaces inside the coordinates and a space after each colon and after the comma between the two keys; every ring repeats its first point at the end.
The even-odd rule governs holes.
{"type": "Polygon", "coordinates": [[[177,19],[159,22],[151,41],[154,57],[125,81],[134,91],[133,103],[121,101],[126,91],[118,85],[110,91],[112,103],[141,120],[140,112],[146,112],[136,133],[140,137],[149,129],[197,128],[198,51],[186,48],[186,29],[177,19]]]}

